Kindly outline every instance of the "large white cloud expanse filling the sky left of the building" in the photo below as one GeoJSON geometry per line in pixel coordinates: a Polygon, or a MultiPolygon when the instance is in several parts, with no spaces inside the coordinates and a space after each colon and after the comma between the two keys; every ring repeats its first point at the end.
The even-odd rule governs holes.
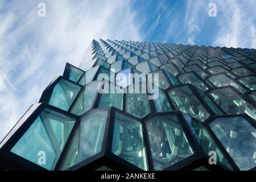
{"type": "Polygon", "coordinates": [[[141,40],[130,1],[4,2],[0,14],[0,140],[38,102],[68,61],[79,65],[92,39],[141,40]]]}

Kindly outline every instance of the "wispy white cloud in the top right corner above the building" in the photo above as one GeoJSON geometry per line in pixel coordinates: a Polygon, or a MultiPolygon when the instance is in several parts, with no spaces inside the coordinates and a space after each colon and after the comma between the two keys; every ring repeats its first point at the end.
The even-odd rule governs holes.
{"type": "Polygon", "coordinates": [[[220,18],[213,46],[255,48],[255,1],[220,0],[216,4],[220,18]]]}

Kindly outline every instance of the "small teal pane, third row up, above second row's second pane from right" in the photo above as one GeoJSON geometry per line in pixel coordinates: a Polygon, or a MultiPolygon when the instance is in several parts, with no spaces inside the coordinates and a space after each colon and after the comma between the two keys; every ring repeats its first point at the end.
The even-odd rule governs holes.
{"type": "Polygon", "coordinates": [[[195,75],[195,73],[184,73],[183,75],[178,76],[180,82],[182,84],[191,84],[195,86],[196,88],[199,88],[203,92],[208,90],[209,88],[204,84],[203,81],[200,80],[199,77],[195,75]]]}

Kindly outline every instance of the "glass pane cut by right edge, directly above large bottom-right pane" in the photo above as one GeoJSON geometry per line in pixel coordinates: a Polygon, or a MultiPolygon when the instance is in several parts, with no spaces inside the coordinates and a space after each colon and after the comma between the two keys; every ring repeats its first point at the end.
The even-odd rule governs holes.
{"type": "Polygon", "coordinates": [[[256,109],[243,100],[230,88],[221,88],[210,92],[213,100],[225,111],[226,114],[244,114],[256,119],[256,109]]]}

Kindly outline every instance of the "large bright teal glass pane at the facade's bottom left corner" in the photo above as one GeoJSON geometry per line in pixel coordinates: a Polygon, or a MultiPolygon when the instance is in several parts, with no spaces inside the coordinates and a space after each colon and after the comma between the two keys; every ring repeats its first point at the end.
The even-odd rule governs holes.
{"type": "Polygon", "coordinates": [[[75,122],[74,118],[44,109],[11,152],[43,168],[53,170],[75,122]],[[40,156],[46,157],[45,163],[41,163],[40,156]]]}

